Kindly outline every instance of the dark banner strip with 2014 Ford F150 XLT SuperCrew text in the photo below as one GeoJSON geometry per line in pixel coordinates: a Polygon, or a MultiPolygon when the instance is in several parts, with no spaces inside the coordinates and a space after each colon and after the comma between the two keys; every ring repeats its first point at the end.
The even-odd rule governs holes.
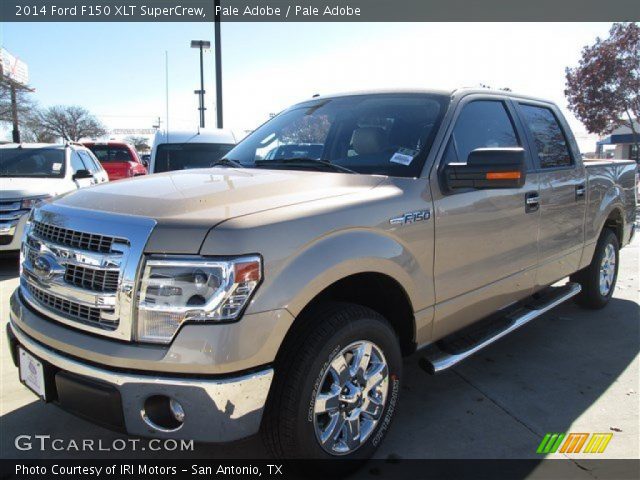
{"type": "Polygon", "coordinates": [[[635,21],[638,0],[2,0],[2,22],[635,21]]]}

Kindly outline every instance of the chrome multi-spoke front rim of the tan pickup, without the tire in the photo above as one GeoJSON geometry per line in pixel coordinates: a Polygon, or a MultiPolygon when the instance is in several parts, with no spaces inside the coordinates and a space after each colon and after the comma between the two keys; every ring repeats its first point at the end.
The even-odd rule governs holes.
{"type": "Polygon", "coordinates": [[[358,341],[331,359],[313,399],[313,425],[331,455],[357,450],[382,418],[389,368],[382,350],[358,341]]]}

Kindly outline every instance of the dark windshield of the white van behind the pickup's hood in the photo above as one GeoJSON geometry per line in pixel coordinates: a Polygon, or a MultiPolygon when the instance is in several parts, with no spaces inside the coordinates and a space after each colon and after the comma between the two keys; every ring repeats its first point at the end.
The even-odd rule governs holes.
{"type": "Polygon", "coordinates": [[[156,150],[153,171],[207,168],[232,148],[233,145],[226,143],[163,143],[156,150]]]}

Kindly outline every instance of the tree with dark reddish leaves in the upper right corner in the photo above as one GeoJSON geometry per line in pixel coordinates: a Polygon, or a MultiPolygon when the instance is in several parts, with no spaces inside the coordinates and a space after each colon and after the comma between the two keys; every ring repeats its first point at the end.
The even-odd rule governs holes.
{"type": "MultiPolygon", "coordinates": [[[[582,49],[578,66],[566,69],[569,109],[590,133],[628,126],[638,148],[640,26],[614,23],[609,37],[582,49]]],[[[637,155],[637,154],[636,154],[637,155]]],[[[636,161],[638,158],[636,158],[636,161]]]]}

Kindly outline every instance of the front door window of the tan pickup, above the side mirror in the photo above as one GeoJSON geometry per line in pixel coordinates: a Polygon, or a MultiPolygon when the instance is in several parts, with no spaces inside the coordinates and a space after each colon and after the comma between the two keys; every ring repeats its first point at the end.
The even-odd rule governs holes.
{"type": "Polygon", "coordinates": [[[511,118],[501,101],[477,100],[465,105],[445,151],[444,162],[465,163],[476,148],[519,147],[511,118]]]}

